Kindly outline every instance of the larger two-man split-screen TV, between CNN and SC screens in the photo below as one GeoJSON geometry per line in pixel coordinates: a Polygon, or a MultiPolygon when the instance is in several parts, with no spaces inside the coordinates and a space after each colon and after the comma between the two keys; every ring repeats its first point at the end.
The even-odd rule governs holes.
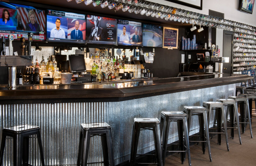
{"type": "Polygon", "coordinates": [[[47,10],[47,41],[85,44],[86,15],[47,10]]]}

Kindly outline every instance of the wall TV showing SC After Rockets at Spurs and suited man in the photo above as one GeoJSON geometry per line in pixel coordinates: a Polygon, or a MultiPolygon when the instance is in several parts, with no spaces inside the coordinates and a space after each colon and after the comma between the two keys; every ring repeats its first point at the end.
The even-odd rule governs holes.
{"type": "Polygon", "coordinates": [[[116,44],[116,19],[87,15],[86,43],[116,44]]]}

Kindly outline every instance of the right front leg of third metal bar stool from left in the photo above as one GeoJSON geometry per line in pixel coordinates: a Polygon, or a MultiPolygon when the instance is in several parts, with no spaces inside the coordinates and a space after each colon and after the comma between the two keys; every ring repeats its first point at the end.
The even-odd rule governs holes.
{"type": "Polygon", "coordinates": [[[160,127],[159,125],[155,126],[154,133],[154,140],[155,140],[155,149],[156,149],[156,157],[158,159],[159,166],[163,166],[162,160],[162,148],[161,148],[161,136],[160,136],[160,127]]]}

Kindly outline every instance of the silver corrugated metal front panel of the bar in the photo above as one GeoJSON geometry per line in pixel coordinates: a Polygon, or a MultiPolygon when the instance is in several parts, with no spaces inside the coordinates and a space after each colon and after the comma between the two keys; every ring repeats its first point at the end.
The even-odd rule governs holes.
{"type": "MultiPolygon", "coordinates": [[[[112,127],[115,164],[119,164],[130,157],[133,118],[157,117],[160,120],[161,111],[183,110],[183,106],[201,106],[204,101],[228,98],[235,95],[235,88],[236,84],[231,84],[122,102],[0,105],[0,129],[18,124],[40,126],[45,165],[70,165],[77,161],[80,124],[107,122],[112,127]]],[[[199,132],[197,116],[193,116],[191,123],[190,135],[199,132]]],[[[172,123],[170,128],[169,143],[178,140],[177,124],[172,123]]],[[[29,148],[30,164],[41,165],[36,139],[31,139],[29,148]]],[[[142,131],[138,153],[154,149],[152,131],[142,131]]],[[[91,138],[89,153],[89,162],[102,161],[99,137],[91,138]]],[[[12,161],[12,139],[8,139],[3,165],[11,166],[12,161]]]]}

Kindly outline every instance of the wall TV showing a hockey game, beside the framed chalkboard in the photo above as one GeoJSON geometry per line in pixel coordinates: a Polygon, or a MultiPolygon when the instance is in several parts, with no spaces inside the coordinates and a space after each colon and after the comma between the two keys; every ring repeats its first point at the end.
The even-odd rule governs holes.
{"type": "Polygon", "coordinates": [[[144,47],[163,47],[163,26],[143,24],[142,35],[144,47]]]}

